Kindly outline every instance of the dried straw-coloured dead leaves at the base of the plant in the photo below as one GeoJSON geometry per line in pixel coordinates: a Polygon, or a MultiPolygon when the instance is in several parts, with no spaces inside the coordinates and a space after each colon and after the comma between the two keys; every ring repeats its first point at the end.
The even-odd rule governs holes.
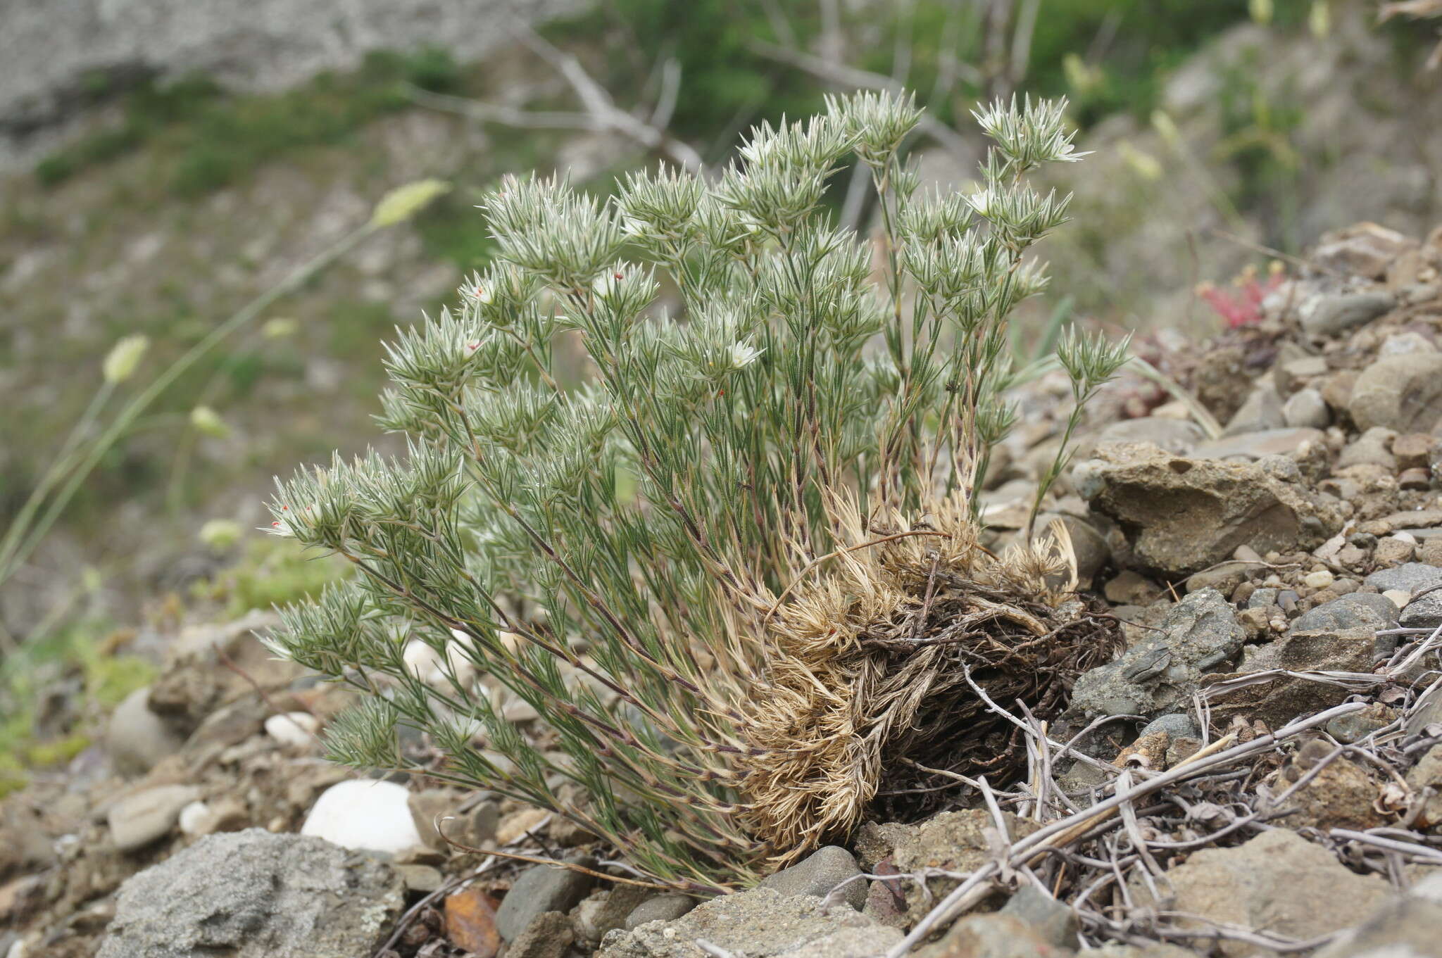
{"type": "Polygon", "coordinates": [[[845,840],[868,815],[917,818],[955,798],[895,795],[919,787],[910,762],[1012,781],[1025,746],[972,681],[998,704],[1019,700],[1050,719],[1076,677],[1120,648],[1115,619],[1048,586],[1067,565],[1060,550],[998,559],[968,517],[937,511],[930,527],[946,539],[848,553],[777,617],[770,683],[746,729],[740,814],[769,867],[845,840]]]}

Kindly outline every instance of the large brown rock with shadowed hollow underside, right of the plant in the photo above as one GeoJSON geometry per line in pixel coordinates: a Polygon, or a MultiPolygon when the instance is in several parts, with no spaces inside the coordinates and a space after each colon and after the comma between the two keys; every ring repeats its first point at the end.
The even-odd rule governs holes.
{"type": "Polygon", "coordinates": [[[1341,527],[1335,506],[1304,485],[1246,462],[1168,455],[1152,445],[1109,445],[1073,471],[1092,509],[1115,520],[1129,565],[1190,575],[1231,558],[1319,545],[1341,527]]]}

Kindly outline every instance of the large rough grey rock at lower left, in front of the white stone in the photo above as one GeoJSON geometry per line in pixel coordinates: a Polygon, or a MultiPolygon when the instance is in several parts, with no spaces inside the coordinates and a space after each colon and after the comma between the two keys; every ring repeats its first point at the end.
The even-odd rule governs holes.
{"type": "Polygon", "coordinates": [[[395,872],[329,841],[208,836],[120,887],[99,958],[360,958],[404,902],[395,872]]]}

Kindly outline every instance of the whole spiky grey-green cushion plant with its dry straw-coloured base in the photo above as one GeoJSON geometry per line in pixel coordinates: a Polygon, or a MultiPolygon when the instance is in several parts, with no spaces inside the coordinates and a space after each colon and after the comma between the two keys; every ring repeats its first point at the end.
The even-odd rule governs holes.
{"type": "MultiPolygon", "coordinates": [[[[420,729],[441,758],[418,771],[688,890],[844,837],[897,769],[1015,769],[978,690],[1045,717],[1115,650],[1063,533],[978,540],[1014,421],[1007,317],[1067,209],[1027,177],[1079,154],[1060,105],[996,104],[981,186],[927,193],[901,153],[919,115],[855,95],[758,127],[712,180],[485,199],[495,261],[388,346],[381,419],[408,455],[301,470],[273,506],[358,570],[271,640],[371,693],[336,759],[404,766],[397,726],[420,729]],[[826,212],[848,157],[870,238],[826,212]],[[508,722],[502,690],[539,722],[508,722]]],[[[1058,359],[1080,406],[1123,349],[1069,334],[1058,359]]]]}

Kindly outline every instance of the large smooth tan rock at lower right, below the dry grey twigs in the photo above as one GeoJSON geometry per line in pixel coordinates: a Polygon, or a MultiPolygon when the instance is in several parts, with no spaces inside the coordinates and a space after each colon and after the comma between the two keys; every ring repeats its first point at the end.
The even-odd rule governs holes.
{"type": "MultiPolygon", "coordinates": [[[[1151,903],[1145,883],[1132,895],[1151,903]]],[[[1288,938],[1315,938],[1364,921],[1387,899],[1377,876],[1360,876],[1327,849],[1288,828],[1265,831],[1234,849],[1203,849],[1167,870],[1156,883],[1168,908],[1240,928],[1265,928],[1288,938]]],[[[1220,954],[1253,955],[1244,942],[1223,942],[1220,954]]]]}

